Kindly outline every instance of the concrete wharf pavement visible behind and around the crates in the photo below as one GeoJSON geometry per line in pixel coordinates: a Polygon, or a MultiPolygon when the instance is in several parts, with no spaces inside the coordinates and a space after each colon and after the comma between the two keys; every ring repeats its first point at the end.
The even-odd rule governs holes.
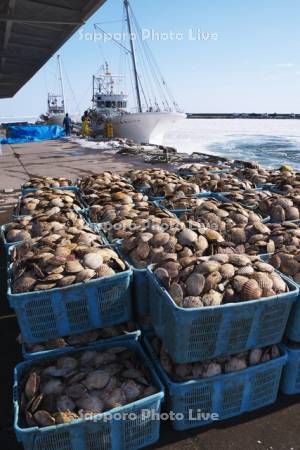
{"type": "MultiPolygon", "coordinates": [[[[105,151],[84,150],[70,142],[3,146],[0,155],[0,189],[20,188],[30,175],[76,178],[103,170],[125,171],[141,166],[134,157],[105,151]]],[[[165,167],[165,166],[163,166],[165,167]]],[[[5,193],[3,194],[5,197],[5,193]]],[[[6,195],[9,202],[9,196],[6,195]]],[[[8,204],[8,207],[10,205],[8,204]]],[[[0,223],[10,220],[11,209],[0,210],[0,223]]],[[[16,318],[6,299],[6,261],[0,254],[0,442],[5,450],[22,448],[13,433],[12,374],[22,360],[16,342],[16,318]]],[[[300,450],[300,395],[280,395],[275,405],[216,423],[203,429],[175,432],[169,423],[161,427],[161,439],[151,448],[199,450],[300,450]]],[[[70,449],[71,450],[71,449],[70,449]]]]}

